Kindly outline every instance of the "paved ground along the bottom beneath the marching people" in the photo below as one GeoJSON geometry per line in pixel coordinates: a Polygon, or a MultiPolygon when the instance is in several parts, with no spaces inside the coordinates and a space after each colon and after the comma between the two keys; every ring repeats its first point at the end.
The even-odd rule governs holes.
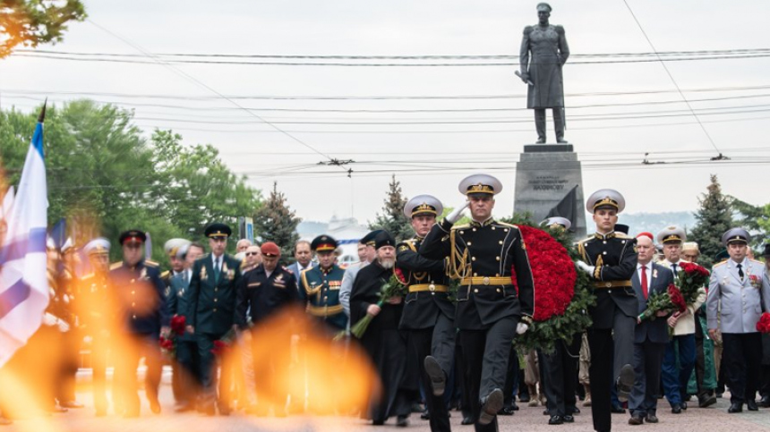
{"type": "MultiPolygon", "coordinates": [[[[142,398],[143,399],[143,398],[142,398]]],[[[146,401],[142,401],[140,419],[121,419],[114,415],[97,419],[93,415],[90,394],[79,393],[78,400],[85,402],[87,407],[81,410],[71,410],[64,414],[56,414],[39,422],[34,419],[17,420],[13,426],[0,427],[0,432],[40,432],[42,430],[53,432],[68,431],[151,431],[151,432],[193,432],[193,431],[375,431],[396,430],[394,420],[390,420],[383,427],[372,427],[361,419],[344,417],[292,417],[286,419],[255,418],[234,414],[230,417],[201,417],[196,413],[173,413],[173,401],[168,385],[161,389],[161,402],[163,412],[159,415],[150,414],[150,408],[146,401]]],[[[668,409],[658,412],[660,423],[657,425],[646,424],[644,426],[629,426],[628,414],[613,414],[613,429],[616,431],[629,431],[658,429],[666,432],[721,432],[721,431],[768,431],[770,430],[770,409],[760,409],[757,412],[744,411],[742,414],[727,414],[728,400],[719,399],[719,402],[706,409],[690,408],[680,415],[674,415],[668,409]]],[[[668,406],[662,401],[661,406],[668,406]]],[[[745,410],[745,409],[744,409],[745,410]]],[[[471,432],[472,427],[461,426],[460,414],[452,411],[452,429],[455,431],[471,432]]],[[[543,416],[542,407],[522,407],[515,416],[500,417],[500,430],[518,431],[525,430],[560,430],[591,431],[590,409],[584,410],[576,416],[572,425],[548,426],[547,417],[543,416]]],[[[409,431],[428,431],[428,422],[413,415],[409,431]]]]}

